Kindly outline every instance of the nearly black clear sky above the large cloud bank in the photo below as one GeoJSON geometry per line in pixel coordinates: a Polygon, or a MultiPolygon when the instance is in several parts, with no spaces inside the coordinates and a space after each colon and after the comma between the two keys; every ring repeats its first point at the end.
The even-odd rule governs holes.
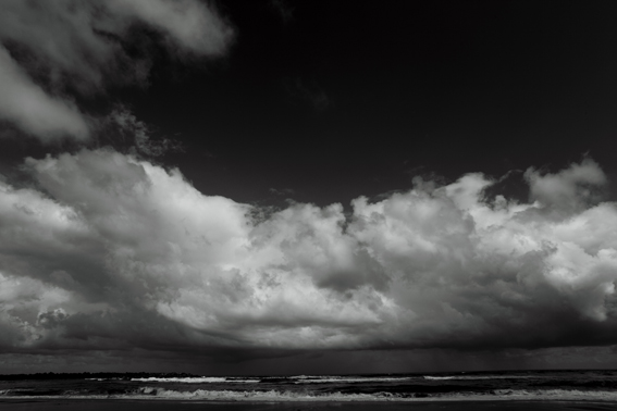
{"type": "Polygon", "coordinates": [[[220,8],[237,29],[223,62],[175,78],[176,65],[155,70],[152,86],[125,99],[178,134],[188,150],[172,161],[203,192],[256,201],[291,188],[299,201],[346,204],[407,189],[418,172],[558,170],[585,152],[610,166],[610,2],[220,8]]]}

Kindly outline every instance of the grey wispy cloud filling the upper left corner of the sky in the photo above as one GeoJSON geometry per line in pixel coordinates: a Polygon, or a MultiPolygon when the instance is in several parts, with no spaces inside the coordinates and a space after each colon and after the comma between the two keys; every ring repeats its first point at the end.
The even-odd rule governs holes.
{"type": "Polygon", "coordinates": [[[145,84],[151,57],[143,28],[176,55],[223,54],[232,28],[197,0],[72,0],[2,3],[0,117],[44,141],[84,140],[91,122],[71,95],[104,94],[110,85],[145,84]]]}

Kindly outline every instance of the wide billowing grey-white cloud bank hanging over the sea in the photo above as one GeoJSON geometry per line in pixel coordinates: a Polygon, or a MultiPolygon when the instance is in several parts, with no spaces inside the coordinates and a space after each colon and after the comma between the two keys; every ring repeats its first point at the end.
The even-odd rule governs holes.
{"type": "Polygon", "coordinates": [[[273,213],[112,149],[0,182],[0,347],[306,350],[616,344],[617,204],[592,160],[273,213]]]}

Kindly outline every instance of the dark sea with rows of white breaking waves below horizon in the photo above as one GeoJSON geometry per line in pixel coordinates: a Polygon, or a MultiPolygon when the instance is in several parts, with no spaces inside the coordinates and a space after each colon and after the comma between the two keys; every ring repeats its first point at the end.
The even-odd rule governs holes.
{"type": "Polygon", "coordinates": [[[617,371],[0,375],[0,410],[617,410],[617,371]]]}

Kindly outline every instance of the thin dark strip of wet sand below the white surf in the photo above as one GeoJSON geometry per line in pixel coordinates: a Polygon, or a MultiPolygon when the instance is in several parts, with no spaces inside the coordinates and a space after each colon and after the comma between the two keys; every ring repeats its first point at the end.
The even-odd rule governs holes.
{"type": "Polygon", "coordinates": [[[2,411],[166,411],[166,410],[210,410],[210,411],[608,411],[617,410],[612,401],[414,401],[414,402],[215,402],[175,400],[104,400],[104,399],[24,399],[0,400],[2,411]]]}

